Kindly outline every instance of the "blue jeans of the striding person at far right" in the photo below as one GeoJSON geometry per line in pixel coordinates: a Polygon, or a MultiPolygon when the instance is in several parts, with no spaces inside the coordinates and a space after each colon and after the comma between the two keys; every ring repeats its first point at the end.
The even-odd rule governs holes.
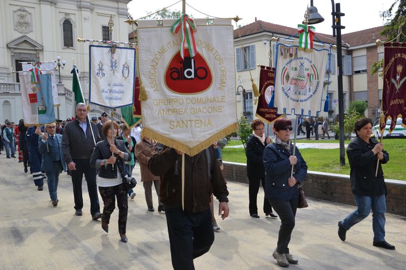
{"type": "Polygon", "coordinates": [[[380,196],[358,196],[354,195],[358,209],[349,214],[342,222],[343,227],[349,230],[352,226],[363,220],[369,215],[372,209],[372,228],[374,230],[374,241],[382,242],[385,240],[385,195],[380,196]]]}

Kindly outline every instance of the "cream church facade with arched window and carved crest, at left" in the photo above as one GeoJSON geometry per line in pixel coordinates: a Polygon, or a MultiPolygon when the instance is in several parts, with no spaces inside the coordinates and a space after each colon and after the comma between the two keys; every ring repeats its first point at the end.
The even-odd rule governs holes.
{"type": "MultiPolygon", "coordinates": [[[[71,70],[74,61],[80,71],[85,99],[89,96],[89,43],[79,43],[77,38],[128,41],[130,27],[123,21],[127,18],[129,1],[0,1],[0,122],[6,118],[18,122],[22,118],[19,78],[12,71],[22,70],[21,62],[56,61],[57,56],[66,61],[66,65],[60,70],[58,94],[61,105],[55,113],[59,119],[72,117],[71,70]],[[108,26],[110,16],[114,22],[112,34],[108,26]]],[[[91,109],[91,114],[99,116],[103,108],[91,106],[91,109]]]]}

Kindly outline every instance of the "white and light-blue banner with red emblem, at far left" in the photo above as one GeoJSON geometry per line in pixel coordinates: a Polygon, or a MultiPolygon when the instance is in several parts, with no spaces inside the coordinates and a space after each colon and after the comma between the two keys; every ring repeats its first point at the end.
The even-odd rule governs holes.
{"type": "Polygon", "coordinates": [[[51,74],[39,74],[39,83],[31,83],[30,72],[20,72],[22,115],[25,126],[55,122],[51,74]]]}

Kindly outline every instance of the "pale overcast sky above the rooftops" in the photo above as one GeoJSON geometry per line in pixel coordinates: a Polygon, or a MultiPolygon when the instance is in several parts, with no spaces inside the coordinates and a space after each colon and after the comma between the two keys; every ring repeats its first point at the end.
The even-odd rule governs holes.
{"type": "MultiPolygon", "coordinates": [[[[134,19],[147,15],[148,12],[160,10],[176,3],[177,0],[132,0],[128,4],[129,13],[134,19]]],[[[342,33],[359,31],[371,27],[382,26],[380,12],[387,10],[394,0],[341,0],[341,12],[345,13],[342,24],[346,27],[342,33]]],[[[235,17],[243,20],[241,25],[247,25],[258,20],[296,27],[303,21],[303,14],[310,0],[187,0],[193,8],[215,17],[235,17]]],[[[313,5],[318,9],[324,22],[316,26],[316,32],[332,34],[331,30],[331,1],[314,0],[313,5]]],[[[182,10],[182,2],[169,8],[182,10]]],[[[204,14],[193,10],[186,5],[186,13],[194,18],[206,18],[204,14]]],[[[234,24],[234,22],[233,22],[234,24]]]]}

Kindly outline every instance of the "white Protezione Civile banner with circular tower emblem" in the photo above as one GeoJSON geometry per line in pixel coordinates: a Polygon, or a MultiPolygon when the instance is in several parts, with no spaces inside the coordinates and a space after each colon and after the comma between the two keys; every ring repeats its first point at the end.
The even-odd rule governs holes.
{"type": "Polygon", "coordinates": [[[277,107],[279,114],[316,117],[322,109],[329,50],[296,48],[298,46],[277,44],[275,103],[269,105],[277,107]]]}

